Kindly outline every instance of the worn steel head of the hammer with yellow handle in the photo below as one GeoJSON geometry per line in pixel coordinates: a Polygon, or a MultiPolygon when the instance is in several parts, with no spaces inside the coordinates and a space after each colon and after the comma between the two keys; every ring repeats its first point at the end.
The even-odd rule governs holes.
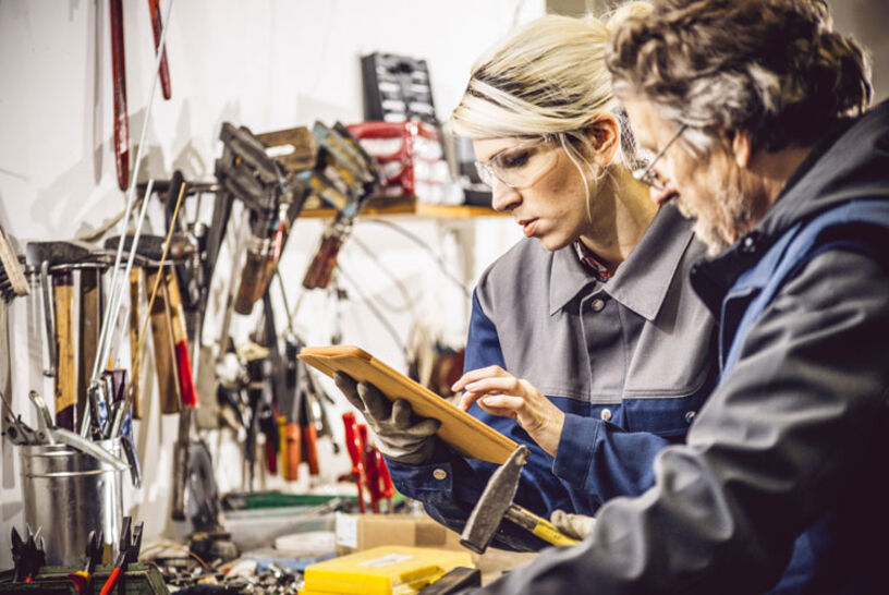
{"type": "Polygon", "coordinates": [[[494,472],[463,527],[460,535],[461,545],[476,554],[483,554],[487,549],[503,515],[512,506],[512,499],[519,489],[522,466],[527,462],[529,453],[526,446],[520,445],[512,451],[507,462],[494,472]]]}

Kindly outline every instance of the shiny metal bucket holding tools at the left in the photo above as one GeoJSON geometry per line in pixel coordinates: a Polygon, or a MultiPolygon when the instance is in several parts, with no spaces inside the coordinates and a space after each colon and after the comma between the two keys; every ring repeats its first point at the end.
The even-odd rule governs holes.
{"type": "MultiPolygon", "coordinates": [[[[120,456],[119,439],[97,444],[120,456]]],[[[21,457],[25,522],[42,527],[47,563],[81,566],[90,531],[105,533],[110,562],[122,525],[122,472],[65,445],[23,446],[21,457]]]]}

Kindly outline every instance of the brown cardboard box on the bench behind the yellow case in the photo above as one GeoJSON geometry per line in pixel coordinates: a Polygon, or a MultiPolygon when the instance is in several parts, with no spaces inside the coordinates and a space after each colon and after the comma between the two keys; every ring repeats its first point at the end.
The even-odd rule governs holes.
{"type": "Polygon", "coordinates": [[[460,535],[422,514],[337,513],[337,551],[349,554],[381,545],[437,547],[468,551],[460,535]]]}

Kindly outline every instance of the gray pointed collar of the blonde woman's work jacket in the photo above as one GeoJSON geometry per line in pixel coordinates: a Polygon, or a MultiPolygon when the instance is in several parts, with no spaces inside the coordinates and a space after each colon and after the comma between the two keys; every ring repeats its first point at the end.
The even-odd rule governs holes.
{"type": "Polygon", "coordinates": [[[549,283],[550,316],[589,286],[599,284],[614,300],[647,320],[660,311],[685,248],[692,241],[692,221],[675,207],[661,208],[651,224],[607,283],[598,283],[571,246],[556,251],[549,283]]]}

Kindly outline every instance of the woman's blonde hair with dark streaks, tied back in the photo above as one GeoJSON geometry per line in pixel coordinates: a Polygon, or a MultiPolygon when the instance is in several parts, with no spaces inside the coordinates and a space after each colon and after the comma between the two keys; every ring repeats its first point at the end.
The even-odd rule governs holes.
{"type": "Polygon", "coordinates": [[[451,114],[454,132],[471,138],[543,136],[559,143],[583,174],[589,163],[581,147],[587,154],[595,148],[587,131],[610,113],[621,129],[618,160],[634,168],[635,144],[611,93],[605,51],[613,23],[649,11],[647,3],[632,2],[608,24],[550,14],[520,27],[473,66],[451,114]]]}

